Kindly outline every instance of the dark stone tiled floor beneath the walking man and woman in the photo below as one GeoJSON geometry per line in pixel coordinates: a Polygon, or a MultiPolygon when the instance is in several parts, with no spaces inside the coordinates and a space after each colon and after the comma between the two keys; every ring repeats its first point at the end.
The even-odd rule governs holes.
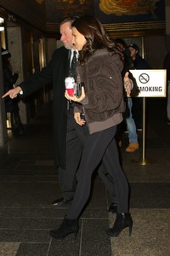
{"type": "Polygon", "coordinates": [[[9,133],[8,144],[0,148],[0,256],[170,255],[170,126],[165,99],[150,99],[146,106],[146,150],[142,151],[142,132],[139,151],[124,152],[126,134],[121,149],[131,185],[132,236],[127,229],[116,239],[105,235],[115,215],[107,212],[107,193],[99,177],[94,179],[77,239],[55,241],[48,235],[60,224],[66,207],[51,206],[60,192],[51,107],[44,106],[26,126],[26,136],[9,133]]]}

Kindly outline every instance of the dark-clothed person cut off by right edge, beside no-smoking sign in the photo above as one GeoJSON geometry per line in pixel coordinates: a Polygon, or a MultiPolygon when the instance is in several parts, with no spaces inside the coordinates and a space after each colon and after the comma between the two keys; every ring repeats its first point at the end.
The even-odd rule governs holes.
{"type": "Polygon", "coordinates": [[[167,125],[170,125],[170,52],[165,56],[163,68],[167,69],[167,125]]]}

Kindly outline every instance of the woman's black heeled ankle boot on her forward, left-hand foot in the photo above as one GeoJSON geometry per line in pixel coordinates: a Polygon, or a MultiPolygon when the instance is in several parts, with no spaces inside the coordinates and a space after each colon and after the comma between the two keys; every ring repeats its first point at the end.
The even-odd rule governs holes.
{"type": "Polygon", "coordinates": [[[76,237],[78,229],[79,229],[79,226],[78,226],[77,219],[64,218],[63,222],[59,226],[59,229],[50,230],[49,235],[53,236],[57,240],[62,240],[65,238],[65,236],[68,236],[71,233],[74,233],[76,237]]]}

